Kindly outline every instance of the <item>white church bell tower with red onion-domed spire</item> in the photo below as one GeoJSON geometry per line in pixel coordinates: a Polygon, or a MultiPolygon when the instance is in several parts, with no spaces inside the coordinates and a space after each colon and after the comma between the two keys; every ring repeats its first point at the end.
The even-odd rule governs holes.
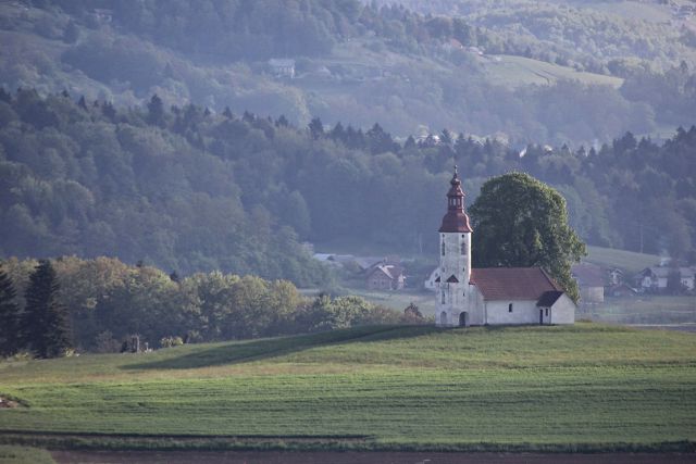
{"type": "Polygon", "coordinates": [[[455,166],[447,192],[447,214],[439,227],[439,277],[435,322],[438,327],[467,326],[467,291],[471,278],[471,225],[464,191],[455,166]]]}

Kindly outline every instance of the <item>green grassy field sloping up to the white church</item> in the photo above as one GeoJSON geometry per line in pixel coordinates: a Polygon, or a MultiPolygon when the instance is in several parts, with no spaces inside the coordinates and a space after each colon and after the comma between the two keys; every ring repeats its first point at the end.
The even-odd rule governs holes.
{"type": "Polygon", "coordinates": [[[577,324],[365,327],[3,363],[0,394],[26,406],[0,410],[0,441],[60,446],[49,432],[70,432],[96,447],[148,435],[137,446],[172,447],[157,441],[170,435],[208,448],[693,449],[695,360],[693,335],[577,324]]]}

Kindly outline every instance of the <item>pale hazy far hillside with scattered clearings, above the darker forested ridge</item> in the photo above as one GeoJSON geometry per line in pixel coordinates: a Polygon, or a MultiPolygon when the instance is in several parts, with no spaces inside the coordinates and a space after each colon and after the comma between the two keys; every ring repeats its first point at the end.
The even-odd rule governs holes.
{"type": "Polygon", "coordinates": [[[126,105],[157,93],[300,126],[378,122],[401,138],[448,128],[518,147],[693,124],[688,28],[599,7],[446,4],[433,11],[463,18],[352,0],[3,3],[0,83],[126,105]],[[294,60],[295,78],[274,76],[274,58],[294,60]]]}

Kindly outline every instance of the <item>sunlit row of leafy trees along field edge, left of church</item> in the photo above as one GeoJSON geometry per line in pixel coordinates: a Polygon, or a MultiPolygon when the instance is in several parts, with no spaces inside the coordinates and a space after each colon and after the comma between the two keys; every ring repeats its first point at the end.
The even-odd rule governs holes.
{"type": "MultiPolygon", "coordinates": [[[[38,297],[30,290],[38,278],[36,273],[32,274],[34,265],[30,260],[13,259],[3,262],[0,272],[13,276],[20,283],[17,288],[27,294],[24,314],[26,327],[32,324],[27,328],[28,339],[44,340],[41,334],[48,329],[33,323],[42,313],[29,308],[38,304],[38,297]]],[[[139,335],[141,344],[147,341],[151,347],[157,342],[169,347],[184,339],[187,342],[247,339],[366,324],[421,322],[358,297],[304,299],[287,280],[211,272],[174,281],[158,268],[128,266],[110,258],[65,256],[55,260],[52,268],[60,289],[58,284],[51,287],[51,304],[70,309],[75,346],[100,353],[119,351],[134,334],[139,335]]],[[[49,351],[38,341],[33,346],[41,356],[49,351]]]]}

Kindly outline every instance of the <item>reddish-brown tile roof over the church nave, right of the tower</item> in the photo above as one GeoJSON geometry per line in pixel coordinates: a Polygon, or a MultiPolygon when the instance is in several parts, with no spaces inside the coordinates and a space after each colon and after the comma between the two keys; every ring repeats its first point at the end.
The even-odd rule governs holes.
{"type": "Polygon", "coordinates": [[[562,291],[540,267],[471,269],[471,281],[486,300],[538,300],[547,291],[562,291]]]}

